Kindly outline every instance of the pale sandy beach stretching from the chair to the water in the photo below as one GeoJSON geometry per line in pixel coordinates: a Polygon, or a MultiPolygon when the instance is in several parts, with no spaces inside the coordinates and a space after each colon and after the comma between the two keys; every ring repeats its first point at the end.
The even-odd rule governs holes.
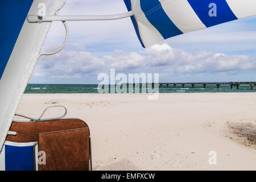
{"type": "Polygon", "coordinates": [[[256,93],[24,94],[16,113],[52,105],[88,123],[93,170],[256,170],[256,93]]]}

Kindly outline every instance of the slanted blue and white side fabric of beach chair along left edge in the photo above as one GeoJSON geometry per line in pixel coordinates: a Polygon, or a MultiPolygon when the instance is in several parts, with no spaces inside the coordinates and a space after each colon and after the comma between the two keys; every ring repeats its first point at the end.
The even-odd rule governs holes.
{"type": "Polygon", "coordinates": [[[51,22],[28,23],[27,14],[55,15],[64,3],[65,0],[0,1],[0,152],[51,26],[51,22]]]}

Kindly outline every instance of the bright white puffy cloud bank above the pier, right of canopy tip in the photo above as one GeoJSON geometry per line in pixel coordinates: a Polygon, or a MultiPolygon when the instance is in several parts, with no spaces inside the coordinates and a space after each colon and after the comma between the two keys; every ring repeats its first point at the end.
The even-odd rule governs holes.
{"type": "Polygon", "coordinates": [[[224,53],[187,53],[168,44],[155,45],[144,51],[151,65],[162,67],[163,72],[214,73],[255,69],[256,60],[246,55],[225,55],[224,53]]]}

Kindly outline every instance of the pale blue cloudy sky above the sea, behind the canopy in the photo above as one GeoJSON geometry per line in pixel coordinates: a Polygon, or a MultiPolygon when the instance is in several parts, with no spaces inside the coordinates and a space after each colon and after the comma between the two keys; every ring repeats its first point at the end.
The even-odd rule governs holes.
{"type": "MultiPolygon", "coordinates": [[[[122,0],[67,0],[60,15],[126,12],[122,0]]],[[[159,73],[160,82],[256,81],[256,16],[189,32],[142,48],[130,18],[67,22],[69,39],[52,56],[41,56],[29,83],[98,84],[100,73],[159,73]]],[[[65,39],[53,22],[42,52],[65,39]]]]}

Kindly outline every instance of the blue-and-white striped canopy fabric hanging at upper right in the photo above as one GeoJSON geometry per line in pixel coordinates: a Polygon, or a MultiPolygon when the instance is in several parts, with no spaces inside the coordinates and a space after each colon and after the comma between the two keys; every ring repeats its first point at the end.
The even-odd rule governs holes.
{"type": "Polygon", "coordinates": [[[124,0],[143,47],[256,14],[256,0],[124,0]]]}

